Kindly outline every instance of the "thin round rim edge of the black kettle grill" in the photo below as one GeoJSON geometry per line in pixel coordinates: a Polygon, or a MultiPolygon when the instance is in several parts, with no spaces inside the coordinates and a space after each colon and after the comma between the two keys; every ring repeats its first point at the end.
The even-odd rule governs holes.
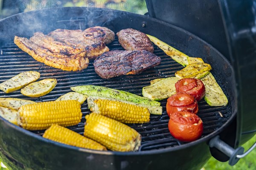
{"type": "MultiPolygon", "coordinates": [[[[104,8],[93,8],[93,7],[62,7],[62,8],[70,8],[70,9],[73,9],[75,10],[76,8],[84,8],[86,10],[103,10],[103,11],[113,11],[113,12],[118,12],[119,10],[112,10],[112,9],[104,9],[104,8]]],[[[42,9],[44,11],[49,11],[49,9],[42,9]]],[[[38,11],[41,11],[41,10],[38,10],[38,11]]],[[[17,17],[19,15],[22,15],[24,13],[26,14],[29,14],[29,13],[34,13],[36,11],[29,11],[29,12],[23,12],[23,13],[19,13],[19,14],[15,14],[15,15],[12,15],[10,17],[6,17],[2,20],[0,20],[0,23],[3,22],[4,20],[9,20],[9,19],[12,19],[13,17],[17,17]]],[[[77,150],[77,151],[81,151],[81,152],[86,152],[86,153],[94,153],[94,154],[102,154],[102,155],[116,155],[116,156],[136,156],[136,155],[151,155],[151,154],[157,154],[157,153],[168,153],[168,152],[172,152],[172,151],[176,151],[176,150],[182,150],[182,149],[185,149],[185,148],[188,148],[190,146],[194,146],[198,143],[202,143],[202,142],[208,142],[210,139],[212,139],[214,136],[218,135],[219,133],[221,133],[225,127],[227,127],[228,125],[230,125],[230,123],[233,121],[233,119],[236,118],[236,114],[237,114],[237,111],[238,111],[238,107],[237,107],[237,89],[236,89],[236,79],[235,79],[235,72],[234,72],[234,69],[232,67],[232,65],[230,64],[230,62],[217,50],[215,49],[214,47],[212,47],[212,45],[210,45],[209,43],[207,43],[206,41],[202,40],[201,38],[197,37],[195,34],[192,34],[190,33],[189,31],[186,31],[184,30],[183,28],[180,28],[180,27],[177,27],[177,26],[174,26],[172,24],[169,24],[169,23],[166,23],[164,21],[161,21],[161,20],[157,20],[155,18],[152,18],[152,17],[148,17],[148,16],[145,16],[145,15],[140,15],[140,14],[134,14],[134,13],[131,13],[131,12],[125,12],[125,11],[119,11],[119,12],[122,12],[124,13],[125,15],[131,15],[131,16],[135,16],[135,17],[142,17],[142,18],[145,18],[145,20],[151,20],[152,22],[154,23],[160,23],[160,24],[164,24],[166,27],[169,27],[169,28],[174,28],[174,29],[177,29],[181,32],[183,32],[183,34],[187,34],[191,37],[194,37],[196,38],[197,40],[199,40],[199,42],[203,43],[204,45],[206,45],[207,47],[211,48],[213,51],[215,51],[225,62],[226,64],[228,65],[228,67],[230,68],[231,70],[231,77],[232,77],[232,82],[230,82],[233,86],[233,90],[234,90],[234,98],[235,98],[235,105],[233,106],[232,105],[232,110],[231,110],[231,116],[230,118],[227,120],[227,122],[225,122],[223,125],[221,125],[221,127],[219,127],[217,130],[213,131],[212,133],[209,133],[208,135],[198,139],[198,140],[195,140],[193,142],[189,142],[189,143],[186,143],[186,144],[182,144],[182,145],[179,145],[179,146],[175,146],[175,147],[169,147],[169,148],[165,148],[165,149],[158,149],[158,150],[143,150],[143,151],[139,151],[139,152],[116,152],[116,151],[111,151],[111,150],[108,150],[108,151],[98,151],[98,150],[90,150],[90,149],[85,149],[85,148],[80,148],[80,147],[74,147],[74,146],[70,146],[70,145],[67,145],[67,144],[62,144],[62,143],[52,143],[51,140],[49,139],[45,139],[43,138],[42,136],[39,136],[29,130],[25,130],[19,126],[16,126],[16,125],[13,125],[12,123],[8,122],[6,119],[3,119],[1,116],[0,116],[0,121],[3,121],[5,122],[9,127],[13,127],[15,130],[21,132],[21,133],[25,133],[26,135],[30,136],[30,137],[33,137],[33,138],[36,138],[36,139],[40,139],[40,141],[42,142],[46,142],[46,143],[51,143],[55,146],[58,146],[58,147],[65,147],[67,149],[71,149],[71,150],[77,150]]],[[[72,20],[70,20],[72,21],[72,20]]],[[[229,101],[231,102],[231,101],[229,101]]],[[[236,129],[236,133],[239,134],[239,129],[236,129]]],[[[237,142],[235,142],[237,143],[237,142]]]]}

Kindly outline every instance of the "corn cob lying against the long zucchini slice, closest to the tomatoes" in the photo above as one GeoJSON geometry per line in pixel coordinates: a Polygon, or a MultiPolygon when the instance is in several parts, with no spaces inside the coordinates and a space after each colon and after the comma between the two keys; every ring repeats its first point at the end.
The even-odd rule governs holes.
{"type": "Polygon", "coordinates": [[[145,123],[150,121],[148,109],[138,105],[105,99],[94,100],[94,104],[94,107],[90,108],[91,111],[122,123],[145,123]]]}

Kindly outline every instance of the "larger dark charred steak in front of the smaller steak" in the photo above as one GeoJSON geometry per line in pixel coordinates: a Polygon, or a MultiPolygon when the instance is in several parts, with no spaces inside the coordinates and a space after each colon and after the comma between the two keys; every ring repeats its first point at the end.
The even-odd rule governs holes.
{"type": "Polygon", "coordinates": [[[140,74],[142,71],[159,65],[160,57],[148,51],[112,50],[103,53],[94,60],[94,69],[103,79],[128,74],[140,74]]]}

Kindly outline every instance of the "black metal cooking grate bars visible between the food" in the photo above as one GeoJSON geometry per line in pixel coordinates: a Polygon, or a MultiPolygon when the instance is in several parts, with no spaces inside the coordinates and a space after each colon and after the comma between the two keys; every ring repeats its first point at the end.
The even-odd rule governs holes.
{"type": "MultiPolygon", "coordinates": [[[[108,45],[108,47],[110,50],[123,49],[119,44],[117,37],[108,45]]],[[[20,91],[15,91],[10,94],[5,94],[3,91],[0,91],[0,96],[30,99],[36,102],[52,101],[57,99],[59,96],[70,92],[70,87],[76,85],[100,85],[141,95],[142,88],[149,85],[150,80],[174,76],[176,71],[183,68],[183,66],[172,60],[171,57],[167,56],[157,46],[154,46],[154,54],[161,57],[160,65],[146,70],[139,75],[128,75],[105,80],[95,73],[92,61],[90,61],[88,68],[83,71],[62,71],[35,61],[35,59],[21,51],[20,48],[12,43],[0,47],[0,83],[23,71],[38,71],[41,73],[41,78],[39,80],[45,78],[56,78],[58,84],[52,92],[46,96],[38,98],[23,96],[20,94],[20,91]]],[[[230,104],[225,107],[210,107],[204,100],[201,100],[198,104],[198,116],[200,116],[204,122],[203,136],[206,136],[221,127],[221,125],[223,125],[231,116],[230,104]]],[[[149,123],[129,125],[143,136],[140,151],[163,149],[183,144],[183,142],[179,142],[177,139],[174,139],[169,133],[169,117],[166,114],[165,107],[166,99],[161,101],[161,105],[163,106],[163,115],[151,115],[151,121],[149,123]]],[[[83,113],[81,123],[69,128],[83,134],[85,122],[84,116],[90,113],[87,108],[87,102],[84,102],[81,106],[81,110],[83,113]]],[[[35,131],[35,133],[42,135],[44,131],[35,131]]]]}

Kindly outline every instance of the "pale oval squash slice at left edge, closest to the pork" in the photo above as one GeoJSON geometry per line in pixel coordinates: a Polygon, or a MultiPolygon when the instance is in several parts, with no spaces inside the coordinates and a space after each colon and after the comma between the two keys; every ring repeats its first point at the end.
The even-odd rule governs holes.
{"type": "Polygon", "coordinates": [[[25,71],[16,75],[15,77],[12,77],[9,80],[6,80],[5,82],[2,82],[0,84],[0,90],[6,93],[17,91],[25,87],[26,85],[32,82],[35,82],[39,78],[40,78],[39,72],[25,71]]]}

